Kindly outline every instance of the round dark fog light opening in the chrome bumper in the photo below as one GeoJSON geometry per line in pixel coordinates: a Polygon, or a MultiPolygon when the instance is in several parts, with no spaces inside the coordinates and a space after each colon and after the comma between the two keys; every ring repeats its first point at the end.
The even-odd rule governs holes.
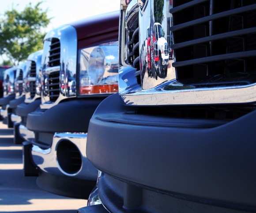
{"type": "Polygon", "coordinates": [[[79,149],[74,143],[68,140],[62,140],[56,148],[57,163],[62,172],[68,175],[74,175],[82,167],[82,157],[79,149]]]}

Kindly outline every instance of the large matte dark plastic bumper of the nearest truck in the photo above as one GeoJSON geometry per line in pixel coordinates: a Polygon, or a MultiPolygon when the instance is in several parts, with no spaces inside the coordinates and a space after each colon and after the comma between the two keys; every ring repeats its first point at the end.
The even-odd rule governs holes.
{"type": "Polygon", "coordinates": [[[228,123],[134,112],[114,94],[90,120],[87,157],[105,173],[99,195],[107,209],[159,211],[162,200],[171,211],[177,198],[180,206],[256,211],[256,110],[228,123]],[[159,202],[149,207],[145,195],[159,202]]]}

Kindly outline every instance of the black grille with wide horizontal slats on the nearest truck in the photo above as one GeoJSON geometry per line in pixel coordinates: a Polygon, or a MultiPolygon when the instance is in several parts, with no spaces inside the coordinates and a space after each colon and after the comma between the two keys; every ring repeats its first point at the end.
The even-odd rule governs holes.
{"type": "Polygon", "coordinates": [[[171,48],[180,82],[219,86],[256,82],[252,78],[256,71],[255,3],[255,0],[173,0],[171,48]]]}

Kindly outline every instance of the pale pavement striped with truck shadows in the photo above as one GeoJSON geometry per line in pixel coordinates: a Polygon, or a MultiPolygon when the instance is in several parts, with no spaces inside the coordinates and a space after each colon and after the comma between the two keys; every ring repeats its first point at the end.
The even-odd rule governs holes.
{"type": "Polygon", "coordinates": [[[0,121],[0,213],[76,213],[86,204],[43,191],[36,177],[25,177],[22,146],[14,144],[13,129],[0,121]]]}

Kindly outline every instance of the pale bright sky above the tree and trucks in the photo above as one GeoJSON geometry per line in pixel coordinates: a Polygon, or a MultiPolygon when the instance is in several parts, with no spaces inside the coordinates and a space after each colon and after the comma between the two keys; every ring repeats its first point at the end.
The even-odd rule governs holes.
{"type": "MultiPolygon", "coordinates": [[[[0,0],[0,15],[12,7],[23,10],[29,2],[35,5],[40,1],[41,7],[48,8],[48,16],[52,17],[46,32],[69,22],[120,9],[120,0],[0,0]]],[[[2,60],[0,57],[0,63],[2,60]]]]}

